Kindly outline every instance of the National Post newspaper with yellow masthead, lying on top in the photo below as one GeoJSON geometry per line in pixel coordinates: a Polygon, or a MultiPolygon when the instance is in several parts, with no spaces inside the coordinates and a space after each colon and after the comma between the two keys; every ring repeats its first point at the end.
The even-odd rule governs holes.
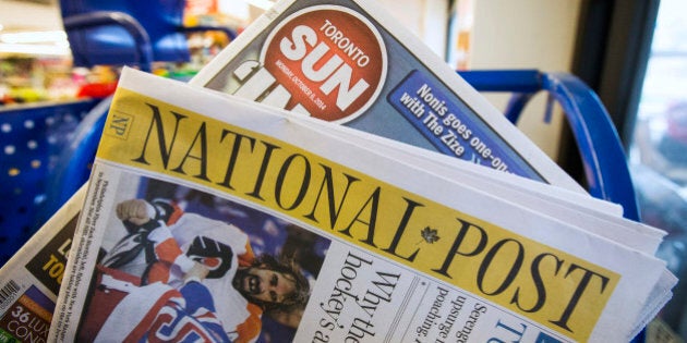
{"type": "Polygon", "coordinates": [[[651,247],[322,125],[124,70],[49,341],[626,342],[670,297],[651,247]]]}

